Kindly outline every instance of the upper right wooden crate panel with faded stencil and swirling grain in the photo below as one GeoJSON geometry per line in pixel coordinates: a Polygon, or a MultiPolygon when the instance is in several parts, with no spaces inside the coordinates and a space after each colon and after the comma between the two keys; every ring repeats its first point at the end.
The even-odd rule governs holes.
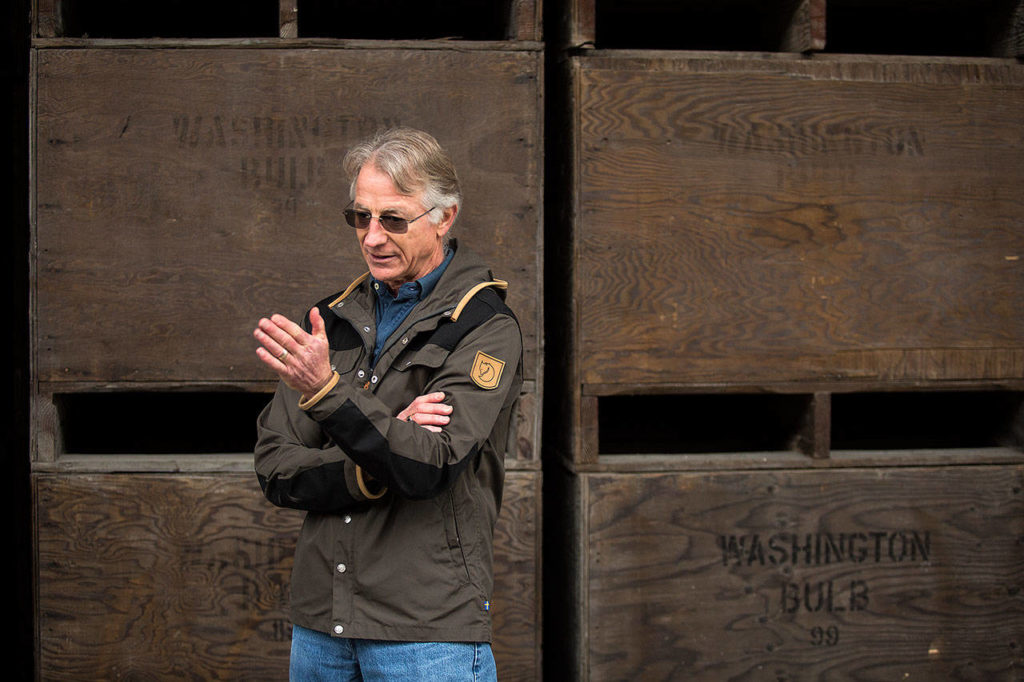
{"type": "Polygon", "coordinates": [[[1024,69],[572,59],[580,383],[1024,376],[1024,69]]]}

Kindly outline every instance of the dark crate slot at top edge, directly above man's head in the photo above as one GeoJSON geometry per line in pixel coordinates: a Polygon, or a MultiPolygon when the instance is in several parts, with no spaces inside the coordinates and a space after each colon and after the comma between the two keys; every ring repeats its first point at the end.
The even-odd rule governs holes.
{"type": "Polygon", "coordinates": [[[298,0],[300,37],[506,40],[514,0],[298,0]]]}

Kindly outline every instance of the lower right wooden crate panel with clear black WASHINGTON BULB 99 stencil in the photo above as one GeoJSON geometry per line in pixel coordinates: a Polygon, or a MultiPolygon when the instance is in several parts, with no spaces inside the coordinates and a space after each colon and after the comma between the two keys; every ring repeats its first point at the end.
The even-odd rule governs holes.
{"type": "Polygon", "coordinates": [[[1024,677],[1022,466],[580,482],[582,679],[1024,677]]]}

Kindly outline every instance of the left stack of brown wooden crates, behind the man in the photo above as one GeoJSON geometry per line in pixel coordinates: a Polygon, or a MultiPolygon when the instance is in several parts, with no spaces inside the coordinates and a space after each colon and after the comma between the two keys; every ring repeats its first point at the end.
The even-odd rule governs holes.
{"type": "Polygon", "coordinates": [[[354,141],[400,124],[452,152],[466,196],[459,237],[511,282],[523,329],[495,650],[503,679],[535,679],[539,5],[455,3],[442,25],[422,3],[356,22],[356,3],[340,1],[215,4],[37,0],[39,675],[287,674],[301,516],[266,503],[252,472],[255,417],[274,377],[251,332],[259,316],[297,317],[365,271],[340,217],[340,162],[354,141]]]}

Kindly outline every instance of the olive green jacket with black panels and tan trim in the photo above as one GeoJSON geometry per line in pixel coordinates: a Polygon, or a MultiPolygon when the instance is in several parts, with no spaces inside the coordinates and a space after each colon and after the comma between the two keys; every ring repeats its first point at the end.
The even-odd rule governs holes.
{"type": "Polygon", "coordinates": [[[453,248],[373,368],[369,278],[319,302],[332,381],[302,404],[281,384],[259,417],[260,485],[273,504],[306,511],[291,589],[292,620],[305,628],[490,641],[493,537],[522,337],[505,283],[453,248]],[[454,408],[440,433],[395,418],[434,391],[454,408]]]}

